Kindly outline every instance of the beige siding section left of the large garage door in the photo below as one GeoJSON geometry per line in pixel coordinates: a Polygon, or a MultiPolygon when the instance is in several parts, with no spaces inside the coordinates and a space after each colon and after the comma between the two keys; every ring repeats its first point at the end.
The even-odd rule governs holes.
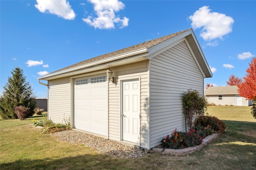
{"type": "Polygon", "coordinates": [[[70,117],[70,78],[48,81],[48,119],[65,123],[70,117]]]}

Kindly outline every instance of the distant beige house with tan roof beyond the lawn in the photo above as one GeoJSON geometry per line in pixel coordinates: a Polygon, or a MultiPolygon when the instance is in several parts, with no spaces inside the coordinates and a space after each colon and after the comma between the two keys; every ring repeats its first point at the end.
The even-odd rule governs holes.
{"type": "Polygon", "coordinates": [[[237,86],[209,87],[204,94],[208,103],[214,103],[216,105],[252,105],[252,100],[246,100],[239,95],[237,86]]]}

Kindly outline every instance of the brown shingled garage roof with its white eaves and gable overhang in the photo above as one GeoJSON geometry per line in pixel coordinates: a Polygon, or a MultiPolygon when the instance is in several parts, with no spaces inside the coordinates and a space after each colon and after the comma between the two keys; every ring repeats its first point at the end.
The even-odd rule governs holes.
{"type": "Polygon", "coordinates": [[[204,54],[202,53],[202,50],[194,35],[193,30],[186,29],[184,31],[166,35],[164,37],[146,41],[144,43],[140,43],[131,47],[127,47],[111,53],[100,55],[98,57],[81,61],[79,63],[41,76],[38,79],[51,80],[64,76],[71,76],[74,74],[81,74],[84,72],[106,69],[108,67],[119,66],[122,64],[148,60],[151,59],[150,55],[152,56],[152,54],[156,53],[156,51],[160,51],[160,49],[163,49],[164,47],[167,47],[168,45],[171,45],[172,43],[175,43],[176,41],[179,41],[184,37],[186,37],[186,40],[190,44],[191,51],[196,57],[196,60],[198,61],[198,64],[202,69],[202,74],[204,74],[204,77],[212,77],[210,67],[204,57],[204,54]],[[96,68],[95,66],[98,66],[98,68],[96,68]]]}

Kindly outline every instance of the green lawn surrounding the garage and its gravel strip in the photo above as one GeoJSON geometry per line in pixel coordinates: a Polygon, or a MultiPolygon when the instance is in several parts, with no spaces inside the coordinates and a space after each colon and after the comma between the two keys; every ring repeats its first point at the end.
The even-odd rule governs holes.
{"type": "Polygon", "coordinates": [[[228,131],[202,150],[188,156],[148,154],[136,159],[114,158],[88,147],[57,141],[54,136],[29,127],[30,119],[42,119],[40,116],[24,121],[1,120],[0,169],[256,169],[256,123],[250,107],[211,106],[208,113],[224,120],[228,131]],[[239,113],[241,117],[236,116],[239,113]]]}

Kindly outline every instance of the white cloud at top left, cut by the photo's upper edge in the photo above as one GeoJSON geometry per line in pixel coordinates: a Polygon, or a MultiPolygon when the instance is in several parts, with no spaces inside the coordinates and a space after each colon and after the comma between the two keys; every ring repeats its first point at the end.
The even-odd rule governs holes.
{"type": "Polygon", "coordinates": [[[66,0],[36,0],[35,7],[42,13],[50,13],[66,20],[74,20],[76,14],[66,0]]]}

